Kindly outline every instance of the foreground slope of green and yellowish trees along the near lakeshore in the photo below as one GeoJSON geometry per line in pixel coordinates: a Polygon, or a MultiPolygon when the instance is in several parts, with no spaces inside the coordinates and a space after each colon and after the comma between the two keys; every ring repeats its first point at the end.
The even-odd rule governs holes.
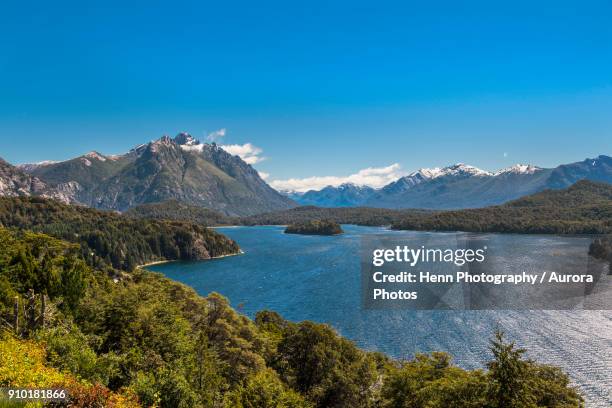
{"type": "Polygon", "coordinates": [[[274,312],[251,321],[219,295],[147,271],[113,281],[75,244],[43,234],[0,229],[0,242],[0,387],[63,386],[73,407],[582,404],[567,375],[501,333],[483,370],[444,353],[395,361],[327,325],[274,312]]]}

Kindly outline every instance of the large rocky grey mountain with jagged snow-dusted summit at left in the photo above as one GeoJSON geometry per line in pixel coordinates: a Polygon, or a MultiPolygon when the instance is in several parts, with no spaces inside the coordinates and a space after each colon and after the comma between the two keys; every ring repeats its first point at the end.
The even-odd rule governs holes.
{"type": "Polygon", "coordinates": [[[100,209],[178,200],[226,215],[251,215],[295,206],[240,157],[187,133],[163,136],[123,155],[90,152],[20,170],[66,191],[72,201],[100,209]]]}

